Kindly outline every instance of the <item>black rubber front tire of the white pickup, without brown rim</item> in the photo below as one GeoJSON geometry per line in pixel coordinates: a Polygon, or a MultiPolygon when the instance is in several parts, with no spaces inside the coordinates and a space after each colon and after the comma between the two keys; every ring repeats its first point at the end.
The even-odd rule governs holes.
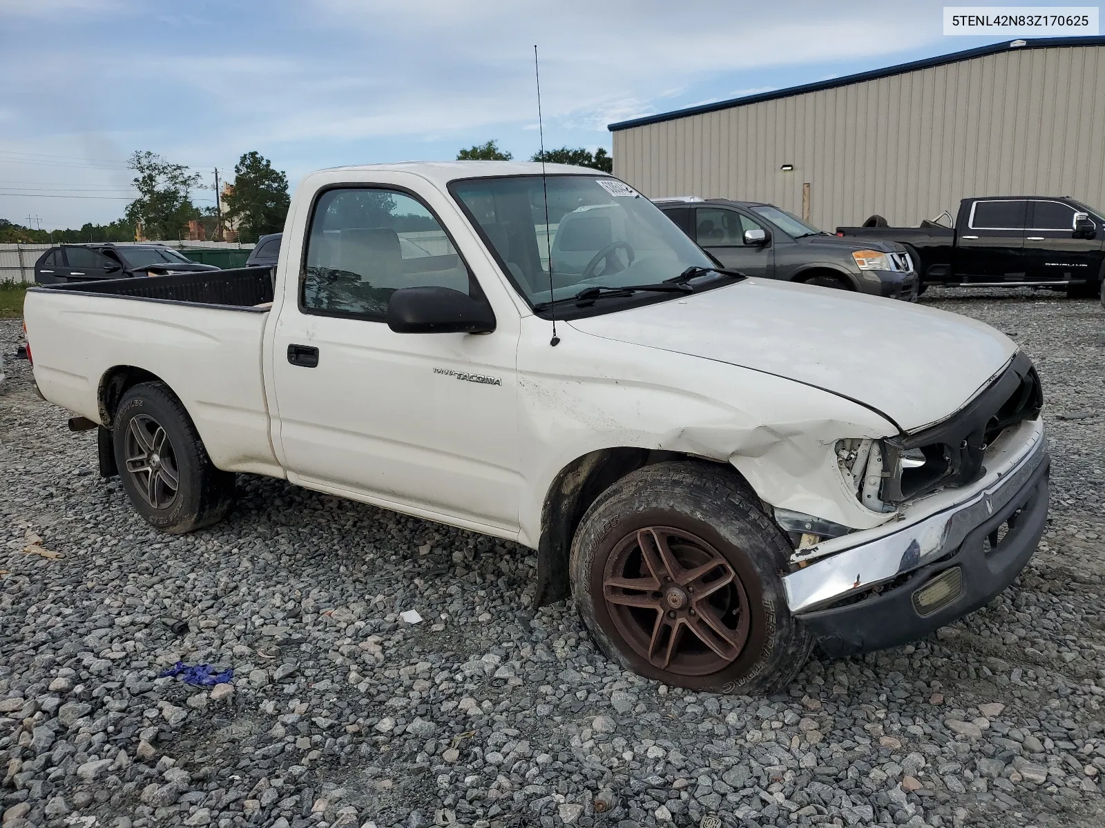
{"type": "Polygon", "coordinates": [[[810,630],[787,608],[780,575],[790,569],[791,552],[734,470],[707,463],[661,463],[623,477],[587,510],[571,545],[571,592],[599,648],[625,669],[694,690],[770,693],[793,679],[813,646],[810,630]],[[661,669],[633,649],[614,622],[619,609],[611,611],[603,592],[611,556],[631,534],[654,526],[704,539],[743,584],[748,637],[735,660],[716,672],[692,676],[661,669]]]}

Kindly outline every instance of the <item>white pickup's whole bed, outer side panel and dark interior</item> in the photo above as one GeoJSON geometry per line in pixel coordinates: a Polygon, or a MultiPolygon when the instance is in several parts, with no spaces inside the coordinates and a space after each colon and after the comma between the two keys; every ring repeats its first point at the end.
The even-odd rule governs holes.
{"type": "Polygon", "coordinates": [[[161,380],[215,466],[281,477],[261,359],[272,298],[263,267],[31,288],[23,316],[35,380],[49,400],[102,425],[113,378],[161,380]]]}

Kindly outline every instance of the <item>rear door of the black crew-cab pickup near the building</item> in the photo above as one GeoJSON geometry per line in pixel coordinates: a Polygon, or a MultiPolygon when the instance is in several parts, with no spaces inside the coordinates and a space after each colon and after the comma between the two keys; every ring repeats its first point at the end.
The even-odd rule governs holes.
{"type": "Polygon", "coordinates": [[[956,275],[967,283],[1024,282],[1024,199],[976,201],[956,238],[956,275]]]}

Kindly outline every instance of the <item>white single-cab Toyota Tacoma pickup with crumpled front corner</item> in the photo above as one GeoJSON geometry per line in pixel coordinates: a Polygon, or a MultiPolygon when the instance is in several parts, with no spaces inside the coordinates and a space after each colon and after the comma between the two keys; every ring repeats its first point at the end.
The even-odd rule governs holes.
{"type": "Polygon", "coordinates": [[[814,640],[902,644],[1013,581],[1049,460],[1012,341],[745,278],[617,179],[545,172],[325,170],[272,272],[32,288],[38,386],[167,532],[249,473],[506,538],[538,604],[699,690],[771,691],[814,640]]]}

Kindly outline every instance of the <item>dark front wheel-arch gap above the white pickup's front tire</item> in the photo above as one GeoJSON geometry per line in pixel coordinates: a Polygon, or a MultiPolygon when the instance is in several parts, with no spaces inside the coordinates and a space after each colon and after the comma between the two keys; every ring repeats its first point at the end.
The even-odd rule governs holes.
{"type": "Polygon", "coordinates": [[[613,446],[588,452],[560,469],[545,495],[541,532],[537,543],[535,607],[554,604],[571,594],[568,570],[571,541],[583,514],[599,495],[638,469],[669,460],[724,466],[758,500],[745,477],[723,460],[635,446],[613,446]]]}

